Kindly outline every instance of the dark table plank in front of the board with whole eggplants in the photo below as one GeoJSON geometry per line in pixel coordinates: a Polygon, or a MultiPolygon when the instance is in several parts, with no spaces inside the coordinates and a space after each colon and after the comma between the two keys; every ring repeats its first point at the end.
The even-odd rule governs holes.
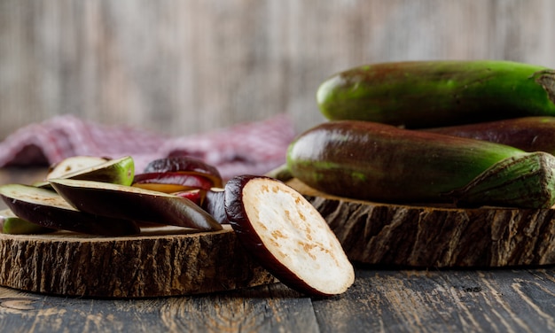
{"type": "Polygon", "coordinates": [[[555,329],[555,269],[357,270],[335,302],[315,301],[320,329],[529,331],[555,329]]]}

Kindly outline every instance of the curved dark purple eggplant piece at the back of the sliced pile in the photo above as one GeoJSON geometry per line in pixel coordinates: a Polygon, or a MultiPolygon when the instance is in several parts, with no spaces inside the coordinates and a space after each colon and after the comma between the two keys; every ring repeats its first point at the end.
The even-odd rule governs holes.
{"type": "Polygon", "coordinates": [[[189,156],[174,156],[165,159],[155,159],[145,167],[145,174],[187,172],[207,177],[212,187],[223,187],[222,175],[217,168],[201,159],[189,156]]]}

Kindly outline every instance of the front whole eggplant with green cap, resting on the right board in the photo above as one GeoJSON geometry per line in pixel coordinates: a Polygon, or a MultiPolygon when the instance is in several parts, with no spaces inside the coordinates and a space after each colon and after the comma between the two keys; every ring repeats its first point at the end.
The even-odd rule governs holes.
{"type": "Polygon", "coordinates": [[[293,176],[339,197],[520,208],[555,204],[555,157],[370,121],[324,122],[287,151],[293,176]]]}

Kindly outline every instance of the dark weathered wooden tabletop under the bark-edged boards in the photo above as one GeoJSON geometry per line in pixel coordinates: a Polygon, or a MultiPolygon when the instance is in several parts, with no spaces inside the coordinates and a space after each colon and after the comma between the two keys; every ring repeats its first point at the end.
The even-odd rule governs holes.
{"type": "MultiPolygon", "coordinates": [[[[42,174],[42,169],[4,169],[0,183],[28,183],[42,174]]],[[[281,283],[147,299],[67,298],[0,287],[0,328],[5,332],[545,332],[555,330],[555,267],[356,267],[355,284],[332,298],[309,298],[281,283]]]]}

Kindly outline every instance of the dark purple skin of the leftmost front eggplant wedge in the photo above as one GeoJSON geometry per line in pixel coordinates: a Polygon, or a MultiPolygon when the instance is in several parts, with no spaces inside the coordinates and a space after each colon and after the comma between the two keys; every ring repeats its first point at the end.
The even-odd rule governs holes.
{"type": "MultiPolygon", "coordinates": [[[[31,186],[20,186],[34,190],[34,187],[31,186]]],[[[51,192],[51,190],[47,191],[51,192]]],[[[68,230],[96,236],[131,236],[137,235],[141,231],[134,221],[83,213],[74,210],[69,205],[65,209],[52,205],[30,203],[4,195],[2,195],[2,198],[14,214],[44,228],[68,230]]]]}

